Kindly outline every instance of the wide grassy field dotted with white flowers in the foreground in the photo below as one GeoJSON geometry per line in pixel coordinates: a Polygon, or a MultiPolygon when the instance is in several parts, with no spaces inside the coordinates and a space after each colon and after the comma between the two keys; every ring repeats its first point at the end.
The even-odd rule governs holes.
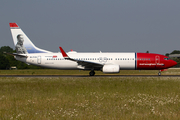
{"type": "Polygon", "coordinates": [[[180,78],[0,78],[0,119],[179,119],[180,78]]]}

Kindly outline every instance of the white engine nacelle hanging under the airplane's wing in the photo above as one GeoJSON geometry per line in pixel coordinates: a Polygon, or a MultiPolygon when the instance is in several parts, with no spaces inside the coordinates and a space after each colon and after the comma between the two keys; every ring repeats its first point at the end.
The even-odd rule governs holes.
{"type": "Polygon", "coordinates": [[[120,66],[119,65],[104,65],[102,68],[103,73],[119,73],[120,66]]]}

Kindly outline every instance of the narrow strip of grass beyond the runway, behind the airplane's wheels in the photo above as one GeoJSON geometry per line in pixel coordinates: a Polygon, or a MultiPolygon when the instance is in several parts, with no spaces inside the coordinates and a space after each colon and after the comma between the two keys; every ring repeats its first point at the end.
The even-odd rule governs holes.
{"type": "MultiPolygon", "coordinates": [[[[104,74],[101,71],[95,72],[96,75],[110,75],[104,74]]],[[[115,75],[157,75],[158,72],[158,70],[120,70],[120,73],[115,75]]],[[[180,74],[180,69],[168,69],[162,72],[162,75],[178,74],[180,74]]],[[[0,70],[0,75],[89,75],[89,71],[55,69],[0,70]]]]}

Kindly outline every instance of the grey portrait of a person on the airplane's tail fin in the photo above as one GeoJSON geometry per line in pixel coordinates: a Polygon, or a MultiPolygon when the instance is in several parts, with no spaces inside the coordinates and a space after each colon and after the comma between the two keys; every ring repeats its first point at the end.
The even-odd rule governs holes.
{"type": "Polygon", "coordinates": [[[17,35],[16,52],[18,54],[27,54],[27,50],[23,45],[24,37],[22,34],[17,35]]]}

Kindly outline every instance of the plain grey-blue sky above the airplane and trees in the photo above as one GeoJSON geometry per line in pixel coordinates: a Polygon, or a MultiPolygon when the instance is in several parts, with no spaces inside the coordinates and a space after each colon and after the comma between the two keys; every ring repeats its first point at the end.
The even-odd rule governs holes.
{"type": "Polygon", "coordinates": [[[0,16],[0,47],[15,49],[15,22],[52,52],[180,50],[180,0],[2,0],[0,16]]]}

